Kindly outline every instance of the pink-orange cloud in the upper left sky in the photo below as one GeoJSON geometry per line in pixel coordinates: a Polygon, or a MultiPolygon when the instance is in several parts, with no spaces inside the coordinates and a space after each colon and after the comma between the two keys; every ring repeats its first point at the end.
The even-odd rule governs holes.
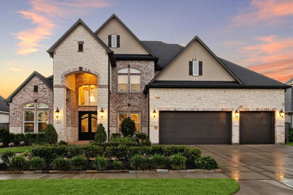
{"type": "Polygon", "coordinates": [[[36,24],[35,28],[15,33],[16,39],[20,42],[16,44],[17,53],[26,55],[36,52],[43,47],[40,42],[50,39],[54,28],[58,22],[64,18],[75,18],[78,15],[86,15],[95,8],[108,7],[110,4],[105,1],[30,1],[32,9],[29,11],[19,11],[23,18],[32,20],[36,24]]]}

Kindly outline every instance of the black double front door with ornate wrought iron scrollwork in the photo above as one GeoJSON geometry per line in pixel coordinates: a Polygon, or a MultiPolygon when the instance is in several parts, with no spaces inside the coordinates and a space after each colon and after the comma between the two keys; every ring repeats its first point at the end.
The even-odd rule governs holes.
{"type": "Polygon", "coordinates": [[[98,125],[97,112],[79,112],[79,140],[94,140],[98,125]]]}

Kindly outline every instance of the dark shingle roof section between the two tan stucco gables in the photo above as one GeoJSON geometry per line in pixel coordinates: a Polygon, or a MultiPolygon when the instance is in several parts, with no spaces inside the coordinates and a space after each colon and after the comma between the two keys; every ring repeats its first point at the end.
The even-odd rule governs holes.
{"type": "Polygon", "coordinates": [[[163,69],[184,47],[161,41],[142,41],[156,57],[159,57],[155,70],[163,69]]]}

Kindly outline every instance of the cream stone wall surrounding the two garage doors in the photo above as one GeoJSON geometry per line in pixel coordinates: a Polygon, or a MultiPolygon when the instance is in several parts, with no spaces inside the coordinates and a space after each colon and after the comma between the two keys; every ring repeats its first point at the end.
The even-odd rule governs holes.
{"type": "Polygon", "coordinates": [[[149,89],[149,138],[159,143],[160,110],[232,111],[232,144],[239,144],[239,111],[274,111],[275,143],[285,142],[285,122],[279,116],[284,109],[283,89],[149,89]],[[153,117],[153,110],[158,116],[153,117]]]}

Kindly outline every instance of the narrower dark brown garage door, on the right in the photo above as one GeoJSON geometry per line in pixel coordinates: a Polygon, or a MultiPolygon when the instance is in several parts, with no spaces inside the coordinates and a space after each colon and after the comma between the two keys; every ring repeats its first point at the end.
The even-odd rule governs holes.
{"type": "Polygon", "coordinates": [[[274,143],[272,112],[240,112],[240,144],[274,143]]]}

